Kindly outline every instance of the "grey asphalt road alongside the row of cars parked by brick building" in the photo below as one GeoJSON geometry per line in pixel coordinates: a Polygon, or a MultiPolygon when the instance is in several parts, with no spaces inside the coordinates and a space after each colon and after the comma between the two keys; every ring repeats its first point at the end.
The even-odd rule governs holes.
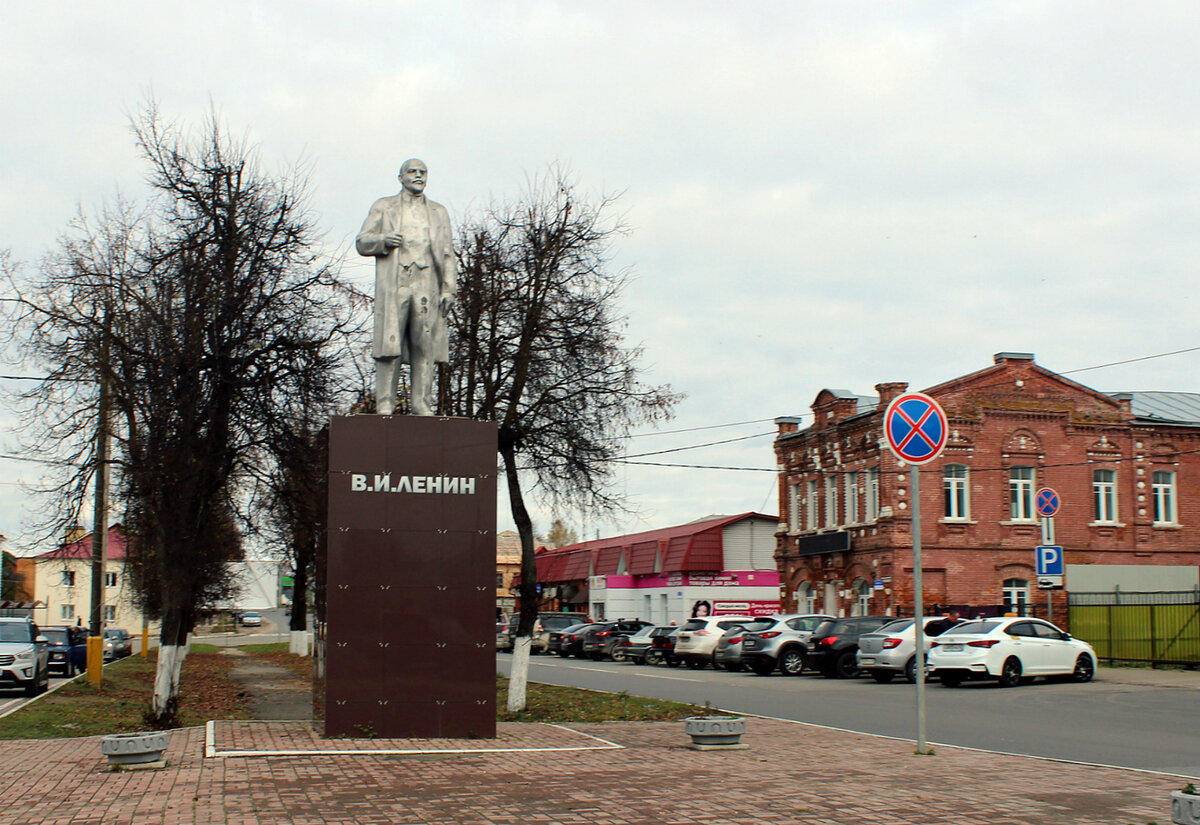
{"type": "MultiPolygon", "coordinates": [[[[497,655],[508,675],[509,654],[497,655]]],[[[755,676],[614,662],[530,658],[529,679],[551,685],[626,691],[635,695],[706,703],[740,713],[774,716],[846,730],[917,737],[917,691],[905,681],[755,676]]],[[[1001,751],[1075,761],[1200,775],[1194,689],[1106,682],[1103,669],[1085,685],[1034,681],[1015,688],[930,682],[926,740],[937,746],[1001,751]]],[[[1054,770],[1048,766],[1048,770],[1054,770]]]]}

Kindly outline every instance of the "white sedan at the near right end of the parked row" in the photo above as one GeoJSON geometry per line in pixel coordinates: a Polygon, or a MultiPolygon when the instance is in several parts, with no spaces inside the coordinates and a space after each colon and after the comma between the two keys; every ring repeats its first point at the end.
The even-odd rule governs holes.
{"type": "Polygon", "coordinates": [[[1040,619],[977,619],[932,640],[929,672],[946,687],[966,679],[998,679],[1012,687],[1034,676],[1086,682],[1096,674],[1096,651],[1040,619]]]}

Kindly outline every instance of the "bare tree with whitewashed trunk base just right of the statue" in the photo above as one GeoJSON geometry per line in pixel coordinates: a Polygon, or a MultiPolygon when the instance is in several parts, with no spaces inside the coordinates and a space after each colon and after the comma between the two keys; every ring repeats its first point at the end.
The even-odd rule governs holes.
{"type": "Polygon", "coordinates": [[[624,342],[611,269],[622,233],[613,199],[580,198],[558,170],[517,203],[461,229],[452,314],[449,411],[499,424],[499,456],[521,536],[521,619],[509,709],[524,706],[529,637],[538,615],[534,532],[526,492],[594,511],[622,505],[612,489],[620,439],[670,417],[679,396],[640,380],[641,350],[624,342]]]}

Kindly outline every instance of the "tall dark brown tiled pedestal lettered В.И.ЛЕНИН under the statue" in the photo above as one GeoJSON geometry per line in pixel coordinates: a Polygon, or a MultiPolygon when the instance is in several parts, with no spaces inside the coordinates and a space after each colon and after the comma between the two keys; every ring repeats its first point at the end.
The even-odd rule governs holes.
{"type": "Polygon", "coordinates": [[[496,735],[496,426],[335,417],[325,735],[496,735]]]}

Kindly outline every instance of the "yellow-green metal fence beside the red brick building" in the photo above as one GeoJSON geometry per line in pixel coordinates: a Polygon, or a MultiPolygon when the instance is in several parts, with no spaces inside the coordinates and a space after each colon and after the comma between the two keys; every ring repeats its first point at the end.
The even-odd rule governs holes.
{"type": "Polygon", "coordinates": [[[1200,664],[1200,594],[1072,592],[1072,636],[1102,660],[1200,664]]]}

